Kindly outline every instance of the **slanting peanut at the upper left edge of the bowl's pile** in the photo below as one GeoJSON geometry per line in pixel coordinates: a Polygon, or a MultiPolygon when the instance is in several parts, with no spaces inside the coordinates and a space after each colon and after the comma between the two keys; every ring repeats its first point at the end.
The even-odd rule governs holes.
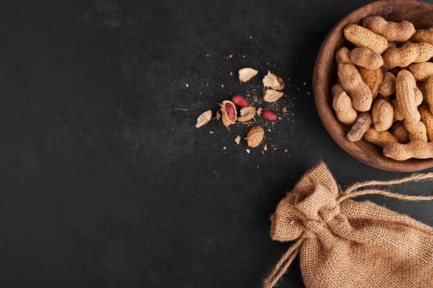
{"type": "Polygon", "coordinates": [[[387,39],[356,24],[344,27],[344,37],[356,46],[368,48],[378,55],[388,48],[387,39]]]}

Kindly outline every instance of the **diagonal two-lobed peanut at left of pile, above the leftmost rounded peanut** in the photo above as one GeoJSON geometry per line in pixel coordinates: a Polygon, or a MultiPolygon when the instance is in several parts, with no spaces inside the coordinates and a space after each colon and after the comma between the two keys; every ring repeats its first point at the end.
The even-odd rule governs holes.
{"type": "Polygon", "coordinates": [[[373,95],[355,66],[351,64],[338,65],[338,78],[344,90],[349,93],[353,107],[360,112],[369,111],[373,95]]]}

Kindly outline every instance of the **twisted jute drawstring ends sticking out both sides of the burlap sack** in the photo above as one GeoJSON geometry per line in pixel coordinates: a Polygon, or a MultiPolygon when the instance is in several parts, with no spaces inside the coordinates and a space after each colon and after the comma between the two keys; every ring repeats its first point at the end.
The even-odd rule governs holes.
{"type": "MultiPolygon", "coordinates": [[[[347,189],[345,189],[341,195],[337,199],[337,203],[340,204],[344,200],[356,198],[362,195],[383,195],[389,198],[396,198],[399,200],[405,201],[430,201],[433,200],[433,195],[430,196],[413,196],[413,195],[405,195],[394,193],[391,191],[376,189],[375,186],[392,186],[396,184],[402,184],[406,182],[420,182],[424,180],[432,180],[433,173],[425,173],[425,174],[413,174],[409,177],[403,177],[396,180],[387,180],[387,181],[365,181],[365,182],[357,182],[347,189]],[[371,187],[371,189],[362,189],[358,190],[362,187],[371,187]]],[[[300,247],[302,247],[302,243],[305,238],[301,236],[295,244],[293,244],[287,251],[284,253],[282,258],[277,262],[272,272],[270,272],[268,278],[264,280],[264,288],[272,288],[278,282],[279,278],[281,278],[284,273],[287,271],[288,267],[291,265],[293,260],[295,260],[297,253],[300,251],[300,247]]]]}

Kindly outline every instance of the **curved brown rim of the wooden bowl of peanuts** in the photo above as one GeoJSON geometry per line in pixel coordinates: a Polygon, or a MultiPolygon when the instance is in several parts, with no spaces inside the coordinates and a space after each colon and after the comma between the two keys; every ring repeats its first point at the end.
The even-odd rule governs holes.
{"type": "MultiPolygon", "coordinates": [[[[350,142],[347,140],[344,124],[341,124],[338,121],[331,105],[327,102],[327,99],[330,99],[331,97],[331,86],[324,87],[325,85],[323,83],[326,82],[326,77],[328,77],[327,71],[332,69],[333,61],[335,61],[335,51],[327,47],[331,38],[338,37],[338,34],[342,33],[344,26],[347,26],[350,23],[359,23],[359,21],[364,17],[370,16],[370,11],[373,11],[375,6],[383,5],[389,7],[389,5],[392,5],[394,7],[404,7],[407,6],[408,3],[420,5],[423,8],[430,8],[433,10],[432,4],[418,0],[380,0],[361,6],[340,19],[340,21],[338,21],[338,23],[336,23],[329,31],[320,46],[313,68],[313,97],[315,106],[322,124],[326,128],[326,131],[328,131],[329,135],[331,135],[333,140],[343,148],[344,151],[356,160],[376,169],[394,172],[411,172],[428,169],[433,167],[433,159],[409,159],[405,161],[396,161],[385,157],[383,154],[380,155],[380,153],[378,153],[378,155],[371,154],[374,149],[377,151],[378,146],[367,142],[363,138],[358,142],[350,142]],[[329,59],[331,59],[331,61],[329,61],[329,59]],[[326,63],[327,65],[324,65],[326,63]]],[[[338,45],[335,45],[335,47],[335,50],[340,48],[338,45]]]]}

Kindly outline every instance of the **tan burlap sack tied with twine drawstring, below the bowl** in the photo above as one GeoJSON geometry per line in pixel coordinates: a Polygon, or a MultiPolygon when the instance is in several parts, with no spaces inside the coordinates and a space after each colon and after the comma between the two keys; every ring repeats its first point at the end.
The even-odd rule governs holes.
{"type": "Polygon", "coordinates": [[[371,184],[432,178],[433,173],[417,176],[397,182],[356,184],[340,193],[325,164],[308,171],[271,217],[273,240],[298,241],[279,261],[264,287],[275,285],[297,251],[307,288],[433,287],[432,227],[372,202],[349,199],[376,193],[405,200],[431,200],[377,189],[356,191],[371,184]]]}

